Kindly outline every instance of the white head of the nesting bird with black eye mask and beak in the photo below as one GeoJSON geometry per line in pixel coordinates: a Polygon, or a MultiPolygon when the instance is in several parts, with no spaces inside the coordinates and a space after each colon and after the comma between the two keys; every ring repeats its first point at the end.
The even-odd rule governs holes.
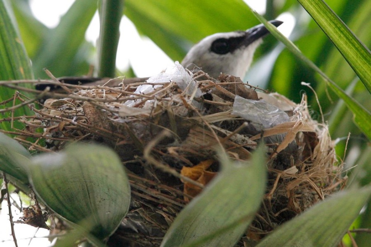
{"type": "MultiPolygon", "coordinates": [[[[283,23],[279,20],[269,22],[276,27],[283,23]]],[[[268,33],[266,27],[259,24],[246,31],[212,34],[195,44],[181,65],[188,69],[200,67],[213,78],[225,73],[243,79],[252,63],[256,48],[268,33]]]]}

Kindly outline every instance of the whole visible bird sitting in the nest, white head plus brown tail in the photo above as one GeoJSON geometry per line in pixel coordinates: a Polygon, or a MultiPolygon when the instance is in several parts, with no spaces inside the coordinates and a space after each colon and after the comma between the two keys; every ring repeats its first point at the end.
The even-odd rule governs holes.
{"type": "MultiPolygon", "coordinates": [[[[283,22],[279,20],[269,21],[278,27],[283,22]]],[[[262,38],[269,33],[263,24],[254,26],[246,31],[232,31],[227,33],[215,33],[205,37],[195,44],[185,55],[181,65],[187,69],[201,68],[209,76],[217,79],[220,73],[230,74],[243,79],[250,64],[256,48],[262,43],[262,38]]],[[[83,84],[84,86],[105,85],[117,87],[120,83],[130,84],[144,82],[148,77],[127,78],[96,78],[96,77],[60,77],[59,81],[67,84],[83,84]]],[[[37,90],[60,89],[48,83],[36,84],[37,90]]]]}

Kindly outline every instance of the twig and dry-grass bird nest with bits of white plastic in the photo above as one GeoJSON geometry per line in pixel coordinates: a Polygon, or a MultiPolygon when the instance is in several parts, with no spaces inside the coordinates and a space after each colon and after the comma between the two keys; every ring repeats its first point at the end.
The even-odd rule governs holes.
{"type": "Polygon", "coordinates": [[[237,77],[221,74],[215,80],[179,64],[146,82],[73,88],[63,99],[47,99],[23,123],[30,136],[44,128],[47,150],[95,141],[119,154],[132,203],[111,236],[112,246],[159,246],[177,213],[201,190],[192,181],[207,184],[219,170],[216,147],[249,160],[259,141],[267,146],[266,194],[240,246],[258,241],[344,182],[327,127],[311,119],[305,96],[296,104],[237,77]],[[247,117],[246,101],[254,104],[247,117]]]}

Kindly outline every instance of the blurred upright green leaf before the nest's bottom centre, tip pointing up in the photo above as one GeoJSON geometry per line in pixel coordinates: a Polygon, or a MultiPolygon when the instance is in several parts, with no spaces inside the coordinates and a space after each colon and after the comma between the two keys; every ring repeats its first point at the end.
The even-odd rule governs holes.
{"type": "Polygon", "coordinates": [[[161,246],[234,246],[259,209],[266,186],[264,148],[250,162],[223,157],[223,169],[178,214],[161,246]]]}

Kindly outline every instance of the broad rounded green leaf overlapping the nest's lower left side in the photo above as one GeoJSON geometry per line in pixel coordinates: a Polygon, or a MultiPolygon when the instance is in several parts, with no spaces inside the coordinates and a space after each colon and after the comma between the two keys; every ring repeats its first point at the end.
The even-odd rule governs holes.
{"type": "Polygon", "coordinates": [[[128,178],[108,147],[79,143],[37,156],[30,181],[50,209],[99,239],[116,230],[129,208],[128,178]]]}

